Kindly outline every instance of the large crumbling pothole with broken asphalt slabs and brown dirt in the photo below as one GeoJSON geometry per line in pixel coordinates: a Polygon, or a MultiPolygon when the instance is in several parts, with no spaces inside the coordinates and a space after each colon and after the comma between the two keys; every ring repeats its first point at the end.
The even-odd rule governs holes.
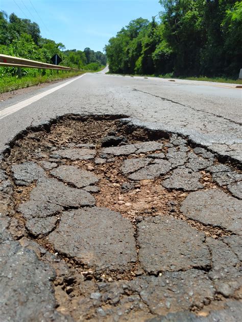
{"type": "Polygon", "coordinates": [[[63,118],[13,144],[0,211],[75,321],[207,315],[240,298],[241,176],[177,135],[63,118]]]}

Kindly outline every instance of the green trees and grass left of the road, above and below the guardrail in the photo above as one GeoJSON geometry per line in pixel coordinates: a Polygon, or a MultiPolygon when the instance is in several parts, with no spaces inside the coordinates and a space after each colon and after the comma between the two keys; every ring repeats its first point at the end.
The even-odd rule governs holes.
{"type": "MultiPolygon", "coordinates": [[[[60,65],[84,71],[99,71],[107,63],[106,55],[90,48],[82,50],[65,50],[62,43],[42,38],[36,22],[21,19],[14,13],[9,16],[0,11],[0,53],[50,63],[57,53],[62,62],[60,65]]],[[[19,78],[17,68],[0,67],[0,93],[37,85],[44,82],[75,76],[83,72],[64,72],[47,69],[22,68],[19,78]]]]}

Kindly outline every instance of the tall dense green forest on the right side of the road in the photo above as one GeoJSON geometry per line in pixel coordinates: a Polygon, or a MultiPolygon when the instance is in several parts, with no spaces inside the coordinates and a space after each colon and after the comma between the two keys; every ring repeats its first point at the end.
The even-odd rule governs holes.
{"type": "Polygon", "coordinates": [[[160,0],[152,21],[138,18],[109,40],[111,72],[238,77],[242,68],[242,2],[160,0]]]}

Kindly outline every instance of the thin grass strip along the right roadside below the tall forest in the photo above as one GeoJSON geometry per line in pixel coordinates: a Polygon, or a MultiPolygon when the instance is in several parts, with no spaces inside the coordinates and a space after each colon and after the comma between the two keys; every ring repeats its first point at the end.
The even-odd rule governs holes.
{"type": "MultiPolygon", "coordinates": [[[[107,74],[114,74],[108,72],[107,74]]],[[[165,75],[138,75],[138,74],[119,74],[122,76],[143,76],[143,77],[159,77],[159,78],[169,78],[169,79],[187,79],[189,81],[202,81],[202,82],[215,82],[215,83],[228,83],[228,84],[242,84],[242,79],[231,79],[226,77],[206,77],[206,76],[199,76],[199,77],[175,77],[172,74],[165,74],[165,75]]]]}

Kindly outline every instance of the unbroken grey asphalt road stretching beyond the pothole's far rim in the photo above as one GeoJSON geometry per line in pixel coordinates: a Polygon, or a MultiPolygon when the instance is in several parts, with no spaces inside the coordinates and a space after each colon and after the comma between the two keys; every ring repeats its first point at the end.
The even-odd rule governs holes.
{"type": "Polygon", "coordinates": [[[57,116],[123,114],[134,122],[182,133],[215,153],[241,161],[241,89],[230,84],[107,75],[105,71],[1,102],[0,153],[20,131],[57,116]]]}

